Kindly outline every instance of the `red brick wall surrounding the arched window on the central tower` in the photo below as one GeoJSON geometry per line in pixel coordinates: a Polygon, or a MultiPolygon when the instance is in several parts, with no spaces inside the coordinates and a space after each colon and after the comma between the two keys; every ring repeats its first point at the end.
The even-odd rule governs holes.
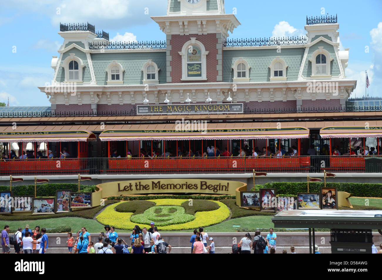
{"type": "MultiPolygon", "coordinates": [[[[217,49],[216,44],[218,39],[216,38],[216,34],[206,34],[206,35],[198,35],[198,34],[189,34],[189,35],[171,35],[170,44],[172,49],[170,50],[170,55],[172,56],[172,61],[170,61],[171,70],[171,78],[172,83],[189,83],[189,81],[181,81],[182,78],[182,57],[178,52],[181,52],[183,45],[191,40],[191,37],[195,37],[197,41],[201,42],[206,51],[209,51],[207,55],[207,82],[216,82],[216,76],[218,75],[218,71],[216,70],[216,65],[218,61],[216,59],[217,49]]],[[[193,83],[206,82],[206,81],[193,81],[193,83]]]]}

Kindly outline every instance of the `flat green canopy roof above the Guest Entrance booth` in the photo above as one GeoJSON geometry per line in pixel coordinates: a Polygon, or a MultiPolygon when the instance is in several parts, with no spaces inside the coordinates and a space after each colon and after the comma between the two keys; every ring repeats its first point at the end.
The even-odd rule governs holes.
{"type": "Polygon", "coordinates": [[[382,210],[283,210],[272,217],[275,228],[382,228],[382,210]]]}

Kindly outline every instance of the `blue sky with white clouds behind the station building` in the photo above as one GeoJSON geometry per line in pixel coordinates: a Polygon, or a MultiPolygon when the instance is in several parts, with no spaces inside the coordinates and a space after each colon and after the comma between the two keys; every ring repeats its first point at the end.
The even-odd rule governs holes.
{"type": "MultiPolygon", "coordinates": [[[[382,1],[249,1],[226,0],[226,13],[237,11],[241,26],[230,38],[294,36],[305,34],[306,16],[338,15],[340,40],[350,48],[346,76],[358,80],[351,95],[365,91],[364,71],[369,73],[370,96],[382,88],[382,1]],[[293,4],[291,4],[293,3],[293,4]],[[365,52],[365,48],[369,52],[365,52]]],[[[165,15],[167,0],[13,0],[0,3],[0,102],[11,106],[49,106],[44,86],[53,78],[52,55],[63,38],[59,23],[89,23],[117,41],[165,40],[150,16],[165,15]],[[149,8],[149,15],[144,9],[149,8]]]]}

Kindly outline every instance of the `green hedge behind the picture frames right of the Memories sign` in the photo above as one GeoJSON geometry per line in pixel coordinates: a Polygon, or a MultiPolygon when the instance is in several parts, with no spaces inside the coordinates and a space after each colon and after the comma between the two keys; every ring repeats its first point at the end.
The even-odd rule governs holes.
{"type": "MultiPolygon", "coordinates": [[[[272,182],[255,185],[256,190],[261,187],[276,189],[277,194],[290,196],[296,196],[298,192],[308,191],[306,182],[272,182]]],[[[309,192],[320,192],[320,187],[324,187],[324,182],[310,182],[309,192]]],[[[338,191],[348,192],[353,196],[382,197],[382,184],[327,182],[326,187],[337,187],[338,191]]]]}

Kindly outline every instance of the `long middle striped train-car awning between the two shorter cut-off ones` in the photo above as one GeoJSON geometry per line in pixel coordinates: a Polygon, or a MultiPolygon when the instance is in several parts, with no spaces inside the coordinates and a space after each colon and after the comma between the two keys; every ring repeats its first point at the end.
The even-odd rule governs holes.
{"type": "Polygon", "coordinates": [[[101,141],[309,138],[309,129],[280,123],[131,124],[103,131],[101,141]]]}

